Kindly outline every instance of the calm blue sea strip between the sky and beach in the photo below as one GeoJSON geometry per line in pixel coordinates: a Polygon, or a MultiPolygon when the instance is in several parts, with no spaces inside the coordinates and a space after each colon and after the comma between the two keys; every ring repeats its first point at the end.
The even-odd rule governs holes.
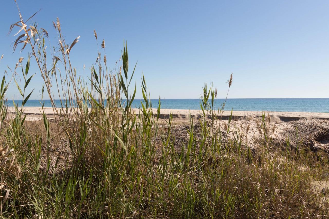
{"type": "MultiPolygon", "coordinates": [[[[135,99],[132,107],[140,107],[139,99],[135,99]]],[[[158,107],[158,99],[152,99],[153,108],[158,107]]],[[[224,99],[216,99],[216,109],[221,107],[224,99]]],[[[44,100],[45,107],[51,107],[49,100],[44,100]]],[[[8,101],[13,106],[12,101],[8,101]]],[[[17,103],[17,101],[16,101],[17,103]]],[[[18,101],[21,104],[21,101],[18,101]]],[[[60,106],[60,101],[56,100],[60,106]]],[[[26,107],[41,106],[39,100],[28,100],[26,107]]],[[[161,109],[200,109],[200,99],[161,99],[161,109]]],[[[225,110],[245,111],[282,111],[282,112],[329,112],[329,98],[243,98],[227,99],[225,110]]]]}

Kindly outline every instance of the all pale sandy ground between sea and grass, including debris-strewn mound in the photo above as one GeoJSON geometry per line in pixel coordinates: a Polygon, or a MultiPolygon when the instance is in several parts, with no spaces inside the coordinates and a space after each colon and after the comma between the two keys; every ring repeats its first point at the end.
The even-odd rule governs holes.
{"type": "MultiPolygon", "coordinates": [[[[138,114],[139,109],[134,109],[138,114]]],[[[14,112],[14,108],[9,108],[14,112]]],[[[44,108],[44,112],[49,119],[54,118],[52,108],[44,108]]],[[[157,109],[153,110],[157,113],[157,109]]],[[[24,113],[27,114],[26,120],[37,121],[42,119],[41,108],[25,107],[24,113]]],[[[193,118],[195,124],[201,118],[199,110],[182,110],[182,109],[161,109],[160,118],[165,121],[172,114],[173,121],[178,129],[181,129],[181,137],[187,134],[190,118],[193,118]]],[[[228,137],[239,137],[249,147],[259,145],[259,141],[264,138],[264,130],[261,130],[262,121],[261,111],[233,111],[230,132],[228,137]]],[[[329,113],[319,112],[273,112],[266,111],[266,129],[268,135],[277,145],[286,145],[289,139],[291,146],[304,144],[312,149],[322,149],[329,152],[329,113]]],[[[222,115],[216,115],[214,125],[226,135],[228,119],[231,111],[224,111],[222,115]]],[[[208,116],[208,118],[211,118],[208,116]]],[[[210,120],[211,121],[211,120],[210,120]]],[[[210,122],[211,123],[211,122],[210,122]]]]}

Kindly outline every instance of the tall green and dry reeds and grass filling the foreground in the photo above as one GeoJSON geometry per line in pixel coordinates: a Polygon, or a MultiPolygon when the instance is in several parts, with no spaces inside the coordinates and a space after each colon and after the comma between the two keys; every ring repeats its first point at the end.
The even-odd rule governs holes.
{"type": "MultiPolygon", "coordinates": [[[[131,84],[136,64],[133,70],[129,68],[127,43],[119,64],[110,70],[103,40],[89,77],[82,78],[70,61],[79,37],[67,44],[57,18],[53,22],[59,37],[57,48],[48,53],[48,32],[36,29],[37,24],[28,28],[28,20],[24,22],[20,14],[20,20],[10,28],[12,31],[18,26],[17,34],[24,33],[16,38],[13,49],[20,42],[24,43],[23,49],[30,48],[25,67],[20,66],[22,88],[14,77],[23,101],[15,105],[13,117],[7,115],[5,93],[9,83],[5,77],[0,89],[2,216],[328,215],[323,196],[314,193],[311,186],[311,181],[319,178],[316,173],[325,172],[329,166],[326,155],[315,159],[316,153],[307,149],[295,151],[289,145],[283,145],[286,150],[274,148],[265,114],[259,126],[264,139],[254,152],[237,134],[227,137],[234,129],[232,113],[226,129],[220,130],[217,124],[225,103],[216,109],[217,90],[205,85],[200,100],[201,119],[197,124],[191,120],[185,129],[186,141],[177,141],[182,136],[174,131],[172,115],[166,126],[160,127],[161,102],[154,114],[144,76],[139,113],[131,108],[136,94],[136,85],[131,84]],[[25,94],[32,79],[28,76],[30,59],[35,60],[44,80],[42,99],[45,92],[55,115],[54,120],[48,120],[43,113],[37,128],[37,123],[25,121],[23,108],[31,95],[25,94]],[[54,92],[60,98],[59,106],[54,92]],[[302,165],[309,168],[300,168],[302,165]]],[[[96,31],[94,36],[97,42],[96,31]]],[[[228,88],[232,83],[231,74],[228,88]]]]}

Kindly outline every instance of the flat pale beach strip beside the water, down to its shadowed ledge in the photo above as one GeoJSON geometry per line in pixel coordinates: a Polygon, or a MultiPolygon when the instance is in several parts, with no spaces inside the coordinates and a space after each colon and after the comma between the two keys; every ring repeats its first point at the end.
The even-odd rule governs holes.
{"type": "MultiPolygon", "coordinates": [[[[54,117],[54,112],[51,107],[44,107],[44,112],[47,116],[54,117]]],[[[27,118],[37,118],[42,115],[41,107],[23,107],[24,114],[27,114],[27,118]]],[[[139,113],[139,109],[135,110],[136,114],[139,113]]],[[[8,107],[8,112],[15,112],[14,107],[8,107]]],[[[216,111],[218,112],[218,111],[216,111]]],[[[278,112],[278,111],[233,111],[232,117],[233,119],[242,119],[242,120],[255,120],[262,117],[263,112],[265,112],[266,116],[270,116],[271,121],[273,122],[289,122],[295,121],[299,119],[329,119],[328,112],[278,112]]],[[[153,113],[157,113],[157,109],[153,109],[153,113]]],[[[196,109],[161,109],[160,110],[160,118],[167,119],[169,118],[169,114],[172,114],[175,120],[179,121],[189,121],[189,115],[193,119],[199,119],[201,117],[200,110],[196,109]]],[[[218,113],[215,113],[217,119],[221,117],[218,113]]],[[[230,110],[224,110],[222,114],[223,120],[228,120],[231,115],[230,110]]],[[[32,120],[35,120],[32,119],[32,120]]]]}

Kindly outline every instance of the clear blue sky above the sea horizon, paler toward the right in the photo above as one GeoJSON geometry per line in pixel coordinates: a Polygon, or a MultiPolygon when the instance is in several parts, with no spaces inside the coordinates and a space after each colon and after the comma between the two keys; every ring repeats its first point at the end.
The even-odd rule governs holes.
{"type": "MultiPolygon", "coordinates": [[[[130,66],[138,61],[134,79],[139,87],[144,73],[152,98],[199,98],[205,82],[224,97],[232,72],[229,98],[329,97],[329,1],[17,2],[25,19],[42,8],[33,21],[53,44],[56,17],[68,41],[81,36],[70,54],[81,72],[97,57],[94,29],[111,66],[127,40],[130,66]]],[[[7,36],[19,20],[14,0],[1,2],[0,20],[3,74],[26,58],[19,48],[12,53],[14,33],[7,36]]],[[[31,99],[38,99],[42,79],[35,63],[30,69],[38,73],[31,99]]]]}

